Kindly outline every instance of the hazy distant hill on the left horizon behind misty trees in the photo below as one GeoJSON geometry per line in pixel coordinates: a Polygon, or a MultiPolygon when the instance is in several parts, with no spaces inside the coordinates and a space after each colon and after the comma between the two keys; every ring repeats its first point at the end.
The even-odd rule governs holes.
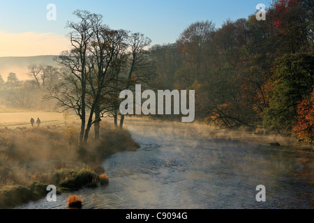
{"type": "Polygon", "coordinates": [[[26,73],[31,63],[45,63],[51,66],[58,66],[58,63],[53,58],[54,55],[0,57],[0,74],[5,82],[10,72],[15,72],[20,80],[28,79],[29,77],[26,73]]]}

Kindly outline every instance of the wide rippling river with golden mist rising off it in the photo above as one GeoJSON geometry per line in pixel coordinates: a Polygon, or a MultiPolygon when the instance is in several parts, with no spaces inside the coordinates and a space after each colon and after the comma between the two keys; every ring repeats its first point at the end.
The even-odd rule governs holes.
{"type": "Polygon", "coordinates": [[[67,208],[70,194],[83,208],[314,208],[313,147],[190,123],[126,119],[126,128],[140,148],[103,161],[108,185],[16,208],[67,208]]]}

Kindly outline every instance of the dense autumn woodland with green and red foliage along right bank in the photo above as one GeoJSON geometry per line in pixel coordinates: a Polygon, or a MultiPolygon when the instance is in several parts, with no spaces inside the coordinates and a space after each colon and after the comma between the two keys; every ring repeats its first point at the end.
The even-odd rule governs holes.
{"type": "Polygon", "coordinates": [[[160,87],[194,89],[196,118],[314,140],[313,1],[276,0],[255,14],[190,24],[176,43],[151,47],[160,87]]]}

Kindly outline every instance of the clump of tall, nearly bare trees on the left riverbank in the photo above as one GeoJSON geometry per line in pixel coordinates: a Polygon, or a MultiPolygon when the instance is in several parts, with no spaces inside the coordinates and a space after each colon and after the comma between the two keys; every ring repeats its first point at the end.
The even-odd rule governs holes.
{"type": "MultiPolygon", "coordinates": [[[[80,116],[79,144],[84,145],[92,125],[95,139],[99,139],[100,118],[113,109],[117,111],[118,89],[128,88],[133,78],[144,76],[143,61],[147,54],[144,47],[151,40],[140,33],[128,36],[128,31],[110,29],[103,24],[101,15],[81,10],[74,14],[80,22],[67,24],[72,30],[69,34],[72,49],[57,57],[64,69],[47,98],[57,99],[58,105],[65,110],[73,109],[80,116]],[[120,73],[126,77],[120,78],[120,73]]],[[[122,125],[123,120],[121,128],[122,125]]]]}

